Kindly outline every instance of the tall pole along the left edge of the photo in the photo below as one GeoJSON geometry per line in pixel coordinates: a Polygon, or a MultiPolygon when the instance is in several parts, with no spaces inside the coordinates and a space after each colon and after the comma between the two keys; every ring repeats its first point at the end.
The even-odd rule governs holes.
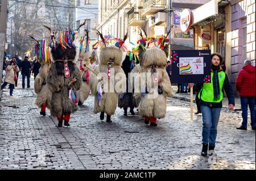
{"type": "MultiPolygon", "coordinates": [[[[3,56],[5,53],[6,16],[7,16],[7,0],[2,0],[1,9],[0,9],[0,83],[1,84],[2,84],[2,72],[3,72],[3,56]]],[[[1,94],[0,94],[0,101],[1,101],[1,94]]]]}

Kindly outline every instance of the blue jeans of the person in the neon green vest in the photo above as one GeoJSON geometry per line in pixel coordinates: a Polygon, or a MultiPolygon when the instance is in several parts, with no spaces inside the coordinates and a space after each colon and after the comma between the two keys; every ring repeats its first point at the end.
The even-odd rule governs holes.
{"type": "Polygon", "coordinates": [[[221,108],[209,108],[208,106],[201,106],[200,108],[203,116],[202,143],[214,146],[221,108]]]}

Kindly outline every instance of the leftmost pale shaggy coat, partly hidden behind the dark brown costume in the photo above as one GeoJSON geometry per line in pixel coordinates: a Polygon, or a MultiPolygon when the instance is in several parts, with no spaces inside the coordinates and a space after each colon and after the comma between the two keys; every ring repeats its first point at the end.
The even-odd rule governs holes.
{"type": "Polygon", "coordinates": [[[43,64],[39,69],[39,74],[35,78],[34,88],[36,94],[35,104],[39,108],[47,102],[47,108],[51,109],[52,92],[49,90],[46,78],[49,71],[49,64],[43,64]]]}

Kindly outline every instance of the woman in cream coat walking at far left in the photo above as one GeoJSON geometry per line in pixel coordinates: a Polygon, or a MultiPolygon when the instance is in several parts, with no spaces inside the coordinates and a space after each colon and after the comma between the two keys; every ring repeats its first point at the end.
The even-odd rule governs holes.
{"type": "Polygon", "coordinates": [[[13,96],[13,90],[14,90],[14,85],[16,79],[18,79],[16,76],[16,72],[19,71],[18,65],[16,65],[16,60],[13,58],[11,60],[10,65],[7,66],[6,68],[6,76],[5,76],[5,81],[3,82],[1,86],[1,90],[5,89],[6,85],[10,85],[10,96],[13,96]]]}

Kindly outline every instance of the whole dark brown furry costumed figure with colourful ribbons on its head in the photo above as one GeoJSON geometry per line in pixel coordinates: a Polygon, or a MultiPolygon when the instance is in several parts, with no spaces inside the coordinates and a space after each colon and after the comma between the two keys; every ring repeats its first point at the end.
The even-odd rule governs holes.
{"type": "Polygon", "coordinates": [[[76,33],[71,30],[51,33],[53,63],[46,81],[52,92],[51,115],[57,117],[58,127],[62,127],[63,120],[64,125],[69,126],[71,113],[78,108],[76,91],[81,88],[81,74],[76,67],[79,58],[79,39],[75,39],[76,33]]]}

